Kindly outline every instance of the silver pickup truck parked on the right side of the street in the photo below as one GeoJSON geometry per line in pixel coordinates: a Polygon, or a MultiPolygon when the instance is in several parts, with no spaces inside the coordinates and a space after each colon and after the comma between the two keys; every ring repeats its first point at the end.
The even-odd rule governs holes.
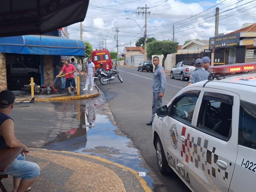
{"type": "Polygon", "coordinates": [[[189,76],[195,70],[194,61],[180,61],[171,70],[171,78],[175,77],[180,78],[181,81],[184,81],[185,78],[189,80],[189,76]]]}

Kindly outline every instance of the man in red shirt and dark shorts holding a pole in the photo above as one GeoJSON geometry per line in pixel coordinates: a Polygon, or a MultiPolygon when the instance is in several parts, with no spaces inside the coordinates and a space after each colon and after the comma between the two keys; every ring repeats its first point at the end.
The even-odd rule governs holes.
{"type": "Polygon", "coordinates": [[[68,95],[71,95],[70,83],[74,87],[74,93],[76,94],[76,82],[75,82],[75,79],[74,79],[75,78],[74,73],[76,71],[76,68],[74,67],[74,65],[68,63],[67,61],[64,64],[65,65],[61,69],[59,75],[57,75],[56,77],[59,77],[64,72],[66,74],[66,76],[65,76],[65,78],[66,78],[65,87],[66,88],[68,87],[68,95]]]}

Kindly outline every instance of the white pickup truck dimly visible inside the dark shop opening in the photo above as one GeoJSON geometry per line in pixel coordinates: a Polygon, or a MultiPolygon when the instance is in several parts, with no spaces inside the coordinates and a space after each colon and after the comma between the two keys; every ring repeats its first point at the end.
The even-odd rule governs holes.
{"type": "Polygon", "coordinates": [[[27,68],[22,62],[8,63],[7,66],[11,68],[11,76],[27,76],[31,72],[38,73],[38,69],[27,68]]]}

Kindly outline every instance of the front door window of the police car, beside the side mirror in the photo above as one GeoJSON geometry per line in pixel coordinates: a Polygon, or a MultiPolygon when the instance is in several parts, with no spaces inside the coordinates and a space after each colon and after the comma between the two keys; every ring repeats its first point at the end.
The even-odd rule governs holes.
{"type": "Polygon", "coordinates": [[[189,91],[178,96],[168,107],[169,116],[191,124],[200,91],[189,91]]]}

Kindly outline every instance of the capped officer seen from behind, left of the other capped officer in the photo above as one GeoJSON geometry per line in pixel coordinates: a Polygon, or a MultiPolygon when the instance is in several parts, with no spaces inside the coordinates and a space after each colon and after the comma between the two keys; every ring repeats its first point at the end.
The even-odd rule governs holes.
{"type": "Polygon", "coordinates": [[[191,85],[199,81],[204,81],[208,78],[209,73],[202,68],[203,64],[204,62],[202,59],[197,59],[195,61],[194,66],[196,67],[196,69],[191,73],[188,85],[191,85]]]}

